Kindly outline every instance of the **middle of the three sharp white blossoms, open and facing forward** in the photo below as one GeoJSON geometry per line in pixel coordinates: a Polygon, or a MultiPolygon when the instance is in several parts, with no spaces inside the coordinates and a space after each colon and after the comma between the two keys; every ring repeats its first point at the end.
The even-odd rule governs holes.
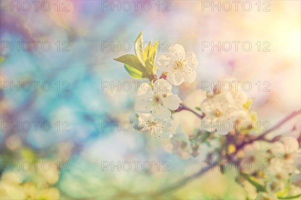
{"type": "Polygon", "coordinates": [[[169,119],[171,111],[180,105],[180,98],[171,93],[172,85],[161,78],[151,86],[147,82],[140,85],[137,91],[135,110],[140,112],[152,112],[158,119],[169,119]]]}

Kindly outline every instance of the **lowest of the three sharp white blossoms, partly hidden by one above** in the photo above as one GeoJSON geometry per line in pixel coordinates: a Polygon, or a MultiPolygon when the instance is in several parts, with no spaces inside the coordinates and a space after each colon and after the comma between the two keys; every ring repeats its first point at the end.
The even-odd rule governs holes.
{"type": "Polygon", "coordinates": [[[171,133],[171,122],[169,120],[158,120],[149,113],[138,113],[139,125],[141,131],[149,132],[150,135],[170,138],[173,136],[171,133]]]}

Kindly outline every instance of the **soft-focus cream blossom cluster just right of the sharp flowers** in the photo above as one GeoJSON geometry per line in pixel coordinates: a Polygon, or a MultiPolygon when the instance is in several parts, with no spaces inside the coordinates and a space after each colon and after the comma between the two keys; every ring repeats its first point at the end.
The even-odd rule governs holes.
{"type": "Polygon", "coordinates": [[[232,129],[251,129],[252,127],[246,127],[252,126],[252,114],[249,110],[251,101],[235,87],[229,91],[215,90],[209,93],[201,103],[201,111],[204,113],[201,130],[226,135],[232,129]]]}

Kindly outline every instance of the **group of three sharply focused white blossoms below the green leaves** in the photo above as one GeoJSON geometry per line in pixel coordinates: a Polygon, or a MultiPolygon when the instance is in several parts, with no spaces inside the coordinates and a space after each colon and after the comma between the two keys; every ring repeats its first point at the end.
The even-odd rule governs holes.
{"type": "MultiPolygon", "coordinates": [[[[147,127],[141,131],[164,136],[162,123],[169,121],[171,110],[176,110],[180,105],[180,98],[171,92],[172,84],[180,85],[183,82],[193,82],[196,79],[198,61],[194,52],[185,52],[180,44],[170,48],[169,54],[161,55],[158,68],[167,73],[167,80],[160,78],[154,82],[143,82],[137,91],[135,110],[138,111],[139,122],[147,127]]],[[[171,135],[170,135],[171,137],[171,135]]]]}

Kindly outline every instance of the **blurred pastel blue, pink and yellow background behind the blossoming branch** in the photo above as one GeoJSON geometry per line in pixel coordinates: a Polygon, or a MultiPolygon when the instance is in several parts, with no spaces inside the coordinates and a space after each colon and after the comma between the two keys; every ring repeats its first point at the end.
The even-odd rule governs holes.
{"type": "MultiPolygon", "coordinates": [[[[135,7],[132,1],[41,0],[35,7],[31,1],[1,0],[1,198],[141,198],[201,168],[206,149],[197,158],[181,159],[169,140],[112,126],[129,120],[136,96],[136,79],[113,58],[134,53],[132,41],[140,31],[144,41],[159,40],[158,56],[175,43],[196,53],[196,81],[173,87],[191,108],[205,96],[201,81],[235,78],[251,82],[246,93],[260,121],[273,125],[299,109],[301,1],[251,1],[250,9],[243,2],[236,11],[225,1],[137,1],[135,7]],[[212,50],[211,41],[230,41],[232,48],[212,50]],[[237,50],[232,41],[240,41],[237,50]],[[122,89],[124,81],[129,90],[122,89]],[[267,84],[270,91],[263,90],[267,84]],[[40,161],[37,170],[33,161],[40,161]],[[102,168],[106,161],[140,163],[136,171],[118,171],[102,168]],[[143,161],[152,168],[143,170],[143,161]],[[44,162],[44,169],[51,165],[48,171],[44,162]]],[[[184,122],[194,116],[181,117],[184,122]]],[[[198,126],[192,122],[178,131],[190,134],[198,126]]],[[[294,134],[293,126],[299,130],[299,116],[278,134],[294,134]]],[[[210,171],[158,198],[244,199],[233,177],[210,171]]]]}

